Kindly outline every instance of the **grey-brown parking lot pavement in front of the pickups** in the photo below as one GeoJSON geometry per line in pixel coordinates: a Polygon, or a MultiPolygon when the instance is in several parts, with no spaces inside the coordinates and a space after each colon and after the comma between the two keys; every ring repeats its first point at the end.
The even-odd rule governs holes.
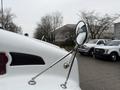
{"type": "Polygon", "coordinates": [[[82,90],[120,90],[120,61],[77,57],[82,90]]]}

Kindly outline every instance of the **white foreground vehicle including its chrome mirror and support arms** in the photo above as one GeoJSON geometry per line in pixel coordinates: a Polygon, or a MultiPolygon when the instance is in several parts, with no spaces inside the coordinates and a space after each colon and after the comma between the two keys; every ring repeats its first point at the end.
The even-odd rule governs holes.
{"type": "Polygon", "coordinates": [[[77,23],[76,35],[76,46],[67,52],[0,29],[0,90],[81,90],[76,53],[87,39],[83,21],[77,23]]]}

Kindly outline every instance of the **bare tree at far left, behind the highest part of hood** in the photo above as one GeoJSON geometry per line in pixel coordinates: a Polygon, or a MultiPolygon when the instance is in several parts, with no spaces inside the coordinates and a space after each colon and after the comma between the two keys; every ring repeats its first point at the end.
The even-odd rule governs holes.
{"type": "Polygon", "coordinates": [[[0,24],[2,28],[7,31],[22,33],[21,27],[17,26],[13,22],[14,14],[11,13],[11,9],[5,9],[2,16],[2,11],[0,11],[0,24]]]}

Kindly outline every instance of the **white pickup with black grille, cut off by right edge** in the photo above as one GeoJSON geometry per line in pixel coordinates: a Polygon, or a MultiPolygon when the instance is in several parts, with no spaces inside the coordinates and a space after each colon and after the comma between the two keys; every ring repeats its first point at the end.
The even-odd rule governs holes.
{"type": "Polygon", "coordinates": [[[96,58],[102,57],[112,61],[119,60],[120,57],[120,40],[112,40],[104,46],[96,46],[94,49],[94,56],[96,58]]]}

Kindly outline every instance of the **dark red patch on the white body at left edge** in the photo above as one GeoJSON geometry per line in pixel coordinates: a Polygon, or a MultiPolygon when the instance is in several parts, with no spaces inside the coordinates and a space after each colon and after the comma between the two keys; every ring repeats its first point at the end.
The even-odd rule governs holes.
{"type": "Polygon", "coordinates": [[[6,64],[8,62],[8,58],[5,53],[0,53],[0,75],[6,73],[6,64]]]}

